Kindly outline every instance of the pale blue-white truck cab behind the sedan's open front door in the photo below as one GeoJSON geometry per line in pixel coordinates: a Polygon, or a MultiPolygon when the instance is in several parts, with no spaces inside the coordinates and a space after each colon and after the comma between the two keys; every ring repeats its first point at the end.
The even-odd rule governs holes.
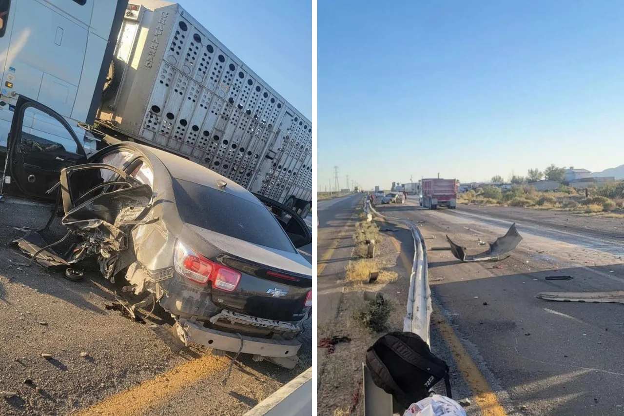
{"type": "MultiPolygon", "coordinates": [[[[79,127],[92,124],[112,59],[127,0],[0,0],[0,151],[6,149],[20,95],[64,116],[85,151],[95,137],[79,127]]],[[[76,152],[66,131],[42,113],[26,114],[26,126],[76,152]]]]}

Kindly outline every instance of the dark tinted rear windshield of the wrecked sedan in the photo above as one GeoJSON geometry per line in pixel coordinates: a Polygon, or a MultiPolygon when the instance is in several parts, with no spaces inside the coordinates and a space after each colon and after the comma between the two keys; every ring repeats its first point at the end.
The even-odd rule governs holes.
{"type": "Polygon", "coordinates": [[[184,222],[272,249],[295,252],[288,235],[262,204],[194,182],[173,179],[178,212],[184,222]]]}

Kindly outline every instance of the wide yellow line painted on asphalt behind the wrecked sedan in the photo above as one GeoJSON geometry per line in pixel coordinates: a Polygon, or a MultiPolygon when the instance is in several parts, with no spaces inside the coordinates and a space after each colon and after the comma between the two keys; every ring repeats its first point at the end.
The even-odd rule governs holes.
{"type": "Polygon", "coordinates": [[[205,355],[197,360],[185,362],[177,367],[102,400],[87,409],[77,412],[74,416],[137,416],[151,405],[162,403],[163,399],[172,397],[180,390],[227,369],[227,362],[213,355],[205,355]]]}

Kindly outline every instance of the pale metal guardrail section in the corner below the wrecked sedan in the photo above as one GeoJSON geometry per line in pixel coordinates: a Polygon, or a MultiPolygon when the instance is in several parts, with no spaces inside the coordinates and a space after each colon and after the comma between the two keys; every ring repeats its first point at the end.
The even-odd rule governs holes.
{"type": "Polygon", "coordinates": [[[312,367],[262,400],[244,416],[312,416],[312,367]]]}

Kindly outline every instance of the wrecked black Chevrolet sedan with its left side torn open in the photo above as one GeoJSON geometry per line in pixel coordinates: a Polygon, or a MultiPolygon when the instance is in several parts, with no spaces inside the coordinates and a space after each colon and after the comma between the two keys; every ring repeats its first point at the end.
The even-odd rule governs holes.
{"type": "MultiPolygon", "coordinates": [[[[29,108],[67,124],[51,109],[20,98],[6,166],[22,192],[33,191],[32,172],[47,160],[46,147],[54,149],[51,157],[62,158],[62,144],[26,133],[29,108]]],[[[78,242],[59,255],[59,242],[29,231],[15,244],[32,260],[72,277],[82,260],[95,257],[104,277],[124,278],[124,291],[144,295],[130,313],[160,304],[185,344],[294,367],[301,345],[296,335],[312,305],[311,265],[296,250],[310,244],[311,234],[295,212],[206,167],[132,142],[60,167],[46,192],[56,194],[67,228],[59,242],[69,236],[78,242]]],[[[42,181],[51,181],[49,165],[42,170],[48,173],[42,181]]],[[[42,197],[46,187],[39,185],[37,195],[24,193],[42,197]]]]}

